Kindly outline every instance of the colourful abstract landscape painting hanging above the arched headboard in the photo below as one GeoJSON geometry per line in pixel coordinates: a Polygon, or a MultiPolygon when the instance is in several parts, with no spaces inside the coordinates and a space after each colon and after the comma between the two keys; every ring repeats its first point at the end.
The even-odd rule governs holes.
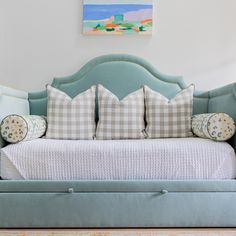
{"type": "Polygon", "coordinates": [[[153,0],[84,0],[83,33],[152,34],[153,0]]]}

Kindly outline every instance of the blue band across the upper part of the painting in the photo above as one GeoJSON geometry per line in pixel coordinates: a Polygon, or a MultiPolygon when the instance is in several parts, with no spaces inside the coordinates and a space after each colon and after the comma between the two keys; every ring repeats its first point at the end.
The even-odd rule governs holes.
{"type": "Polygon", "coordinates": [[[124,14],[129,11],[152,9],[152,5],[111,4],[111,5],[84,5],[84,20],[103,20],[115,14],[124,14]]]}

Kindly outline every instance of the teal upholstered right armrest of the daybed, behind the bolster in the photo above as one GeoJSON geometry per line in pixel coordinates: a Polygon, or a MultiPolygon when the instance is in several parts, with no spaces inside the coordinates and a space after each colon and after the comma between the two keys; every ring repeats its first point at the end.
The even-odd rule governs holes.
{"type": "MultiPolygon", "coordinates": [[[[208,112],[225,112],[236,122],[236,83],[209,91],[208,112]]],[[[236,151],[236,134],[229,143],[236,151]]]]}

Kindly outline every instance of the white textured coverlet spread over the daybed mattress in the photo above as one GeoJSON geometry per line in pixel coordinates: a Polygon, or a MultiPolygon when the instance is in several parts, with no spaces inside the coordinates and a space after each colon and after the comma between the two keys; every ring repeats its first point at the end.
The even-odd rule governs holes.
{"type": "Polygon", "coordinates": [[[1,150],[4,179],[233,179],[236,156],[225,142],[36,139],[1,150]]]}

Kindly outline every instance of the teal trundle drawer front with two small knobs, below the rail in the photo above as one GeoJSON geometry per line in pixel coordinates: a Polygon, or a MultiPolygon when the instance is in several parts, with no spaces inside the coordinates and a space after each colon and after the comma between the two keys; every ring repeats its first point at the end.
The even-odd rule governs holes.
{"type": "Polygon", "coordinates": [[[0,193],[0,227],[236,227],[235,192],[0,193]]]}

